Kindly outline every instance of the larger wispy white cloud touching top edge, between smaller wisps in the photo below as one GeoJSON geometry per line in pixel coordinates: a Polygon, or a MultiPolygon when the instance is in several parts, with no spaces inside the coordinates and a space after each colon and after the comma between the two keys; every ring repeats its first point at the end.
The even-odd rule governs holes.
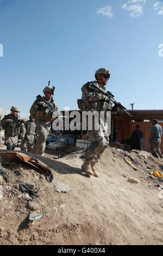
{"type": "Polygon", "coordinates": [[[140,17],[143,14],[142,5],[146,0],[129,0],[121,5],[122,9],[126,9],[130,13],[130,17],[140,17]]]}

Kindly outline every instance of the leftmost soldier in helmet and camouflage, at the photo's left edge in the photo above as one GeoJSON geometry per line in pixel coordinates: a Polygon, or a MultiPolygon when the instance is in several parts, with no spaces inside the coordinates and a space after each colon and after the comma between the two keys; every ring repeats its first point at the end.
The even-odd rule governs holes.
{"type": "Polygon", "coordinates": [[[5,115],[2,119],[1,126],[4,129],[4,144],[7,145],[8,150],[14,150],[17,145],[18,136],[20,136],[20,139],[24,138],[26,127],[23,120],[17,114],[20,113],[18,107],[12,106],[10,111],[11,113],[5,115]]]}

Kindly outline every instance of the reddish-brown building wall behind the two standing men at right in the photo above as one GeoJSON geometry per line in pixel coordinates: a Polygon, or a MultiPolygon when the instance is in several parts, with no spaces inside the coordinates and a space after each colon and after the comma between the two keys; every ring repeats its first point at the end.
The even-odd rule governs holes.
{"type": "MultiPolygon", "coordinates": [[[[130,122],[130,136],[131,136],[131,133],[135,130],[135,126],[137,124],[140,125],[140,130],[144,133],[143,150],[147,152],[151,152],[150,143],[148,143],[148,139],[151,134],[152,123],[151,122],[130,122]]],[[[158,123],[158,124],[161,125],[163,129],[163,123],[158,123]]],[[[161,153],[163,154],[163,139],[161,139],[160,149],[161,149],[161,153]]]]}

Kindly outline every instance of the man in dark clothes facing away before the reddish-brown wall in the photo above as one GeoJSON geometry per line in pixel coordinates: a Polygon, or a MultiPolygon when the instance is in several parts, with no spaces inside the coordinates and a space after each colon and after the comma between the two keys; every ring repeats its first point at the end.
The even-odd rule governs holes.
{"type": "Polygon", "coordinates": [[[130,150],[137,149],[143,150],[143,132],[139,129],[140,125],[136,125],[136,129],[131,133],[130,137],[130,150]]]}

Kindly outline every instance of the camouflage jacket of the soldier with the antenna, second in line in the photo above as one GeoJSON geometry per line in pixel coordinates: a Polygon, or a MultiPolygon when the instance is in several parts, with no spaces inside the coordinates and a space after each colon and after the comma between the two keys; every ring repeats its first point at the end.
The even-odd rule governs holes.
{"type": "MultiPolygon", "coordinates": [[[[45,97],[43,97],[43,99],[45,101],[47,101],[45,99],[45,97]]],[[[46,110],[48,109],[48,107],[43,107],[41,105],[38,105],[39,102],[42,102],[41,99],[36,99],[32,105],[32,107],[30,108],[30,114],[31,117],[35,118],[36,121],[45,121],[45,122],[49,122],[49,121],[53,121],[55,118],[52,117],[52,113],[51,112],[46,112],[46,110]]],[[[55,109],[55,111],[58,111],[58,107],[55,104],[53,98],[49,101],[47,101],[48,103],[50,103],[52,105],[52,107],[55,109]]]]}

